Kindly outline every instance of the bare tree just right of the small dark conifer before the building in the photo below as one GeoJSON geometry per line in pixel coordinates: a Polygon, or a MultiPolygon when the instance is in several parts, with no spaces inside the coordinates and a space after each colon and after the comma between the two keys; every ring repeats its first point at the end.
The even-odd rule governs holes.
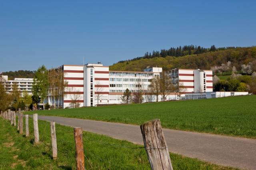
{"type": "Polygon", "coordinates": [[[133,88],[133,98],[132,101],[134,103],[142,103],[144,98],[145,88],[144,88],[144,83],[142,82],[142,79],[138,77],[138,79],[135,79],[135,87],[133,88]]]}

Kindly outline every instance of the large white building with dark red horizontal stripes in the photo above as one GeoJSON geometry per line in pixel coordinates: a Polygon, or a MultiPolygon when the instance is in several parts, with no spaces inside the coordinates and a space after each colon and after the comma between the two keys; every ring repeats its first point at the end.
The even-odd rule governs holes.
{"type": "MultiPolygon", "coordinates": [[[[67,88],[76,88],[77,91],[66,90],[66,97],[61,99],[60,105],[69,107],[72,102],[73,95],[81,95],[79,99],[80,107],[83,106],[96,106],[98,99],[97,87],[102,87],[100,94],[102,95],[99,100],[99,104],[120,104],[120,97],[123,95],[126,89],[131,92],[135,90],[136,81],[141,81],[144,88],[150,86],[151,79],[155,76],[159,76],[162,73],[161,67],[146,68],[144,71],[109,71],[108,66],[88,63],[86,65],[62,65],[60,67],[64,71],[64,79],[68,81],[67,88]]],[[[206,92],[212,91],[212,71],[209,70],[189,70],[189,69],[173,69],[166,71],[169,77],[172,78],[172,82],[177,84],[178,81],[184,82],[184,86],[187,87],[190,93],[196,91],[198,86],[204,87],[206,92]]],[[[185,97],[185,95],[182,95],[185,97]]],[[[145,99],[145,97],[144,97],[145,99]]],[[[170,93],[165,100],[179,99],[176,93],[170,93]]],[[[158,101],[161,101],[162,97],[158,96],[158,101]]],[[[144,102],[147,100],[145,99],[144,102]]],[[[152,99],[156,101],[156,97],[152,99]]],[[[50,105],[53,105],[53,100],[50,94],[46,101],[50,105]]]]}

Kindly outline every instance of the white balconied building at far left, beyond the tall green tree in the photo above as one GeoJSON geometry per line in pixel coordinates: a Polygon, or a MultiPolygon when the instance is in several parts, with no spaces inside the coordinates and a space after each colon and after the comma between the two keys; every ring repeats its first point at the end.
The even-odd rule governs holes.
{"type": "Polygon", "coordinates": [[[33,78],[14,78],[14,80],[8,80],[8,75],[2,75],[2,78],[5,79],[7,93],[11,93],[12,85],[16,83],[21,92],[27,90],[29,95],[32,95],[33,78]]]}

